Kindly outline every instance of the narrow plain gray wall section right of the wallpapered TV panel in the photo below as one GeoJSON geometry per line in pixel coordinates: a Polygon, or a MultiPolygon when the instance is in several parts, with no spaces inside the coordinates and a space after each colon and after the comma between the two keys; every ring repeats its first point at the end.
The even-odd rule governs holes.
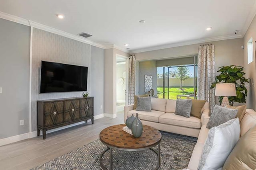
{"type": "Polygon", "coordinates": [[[104,113],[104,58],[105,50],[91,46],[91,94],[94,96],[94,115],[104,113]],[[102,106],[102,109],[100,108],[102,106]]]}

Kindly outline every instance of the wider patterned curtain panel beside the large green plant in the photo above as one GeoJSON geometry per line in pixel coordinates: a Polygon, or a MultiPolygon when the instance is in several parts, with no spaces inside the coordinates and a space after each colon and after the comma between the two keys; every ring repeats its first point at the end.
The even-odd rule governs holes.
{"type": "Polygon", "coordinates": [[[214,45],[200,45],[198,52],[198,100],[210,103],[212,113],[215,106],[214,89],[210,89],[215,82],[214,45]]]}

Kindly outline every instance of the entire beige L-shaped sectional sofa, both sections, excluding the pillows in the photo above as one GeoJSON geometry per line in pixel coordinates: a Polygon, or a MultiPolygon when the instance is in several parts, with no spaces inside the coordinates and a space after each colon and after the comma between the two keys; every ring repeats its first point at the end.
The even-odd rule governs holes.
{"type": "MultiPolygon", "coordinates": [[[[207,139],[208,131],[206,125],[210,119],[209,104],[206,103],[202,108],[202,117],[198,119],[191,116],[190,118],[175,115],[176,100],[154,99],[151,100],[152,111],[136,111],[133,105],[124,107],[124,121],[132,114],[138,113],[144,125],[152,126],[156,129],[178,133],[181,135],[198,137],[194,151],[190,158],[187,169],[197,170],[201,158],[204,142],[207,139]]],[[[240,135],[244,135],[250,128],[256,125],[256,112],[252,109],[246,109],[246,113],[240,122],[240,135]]]]}

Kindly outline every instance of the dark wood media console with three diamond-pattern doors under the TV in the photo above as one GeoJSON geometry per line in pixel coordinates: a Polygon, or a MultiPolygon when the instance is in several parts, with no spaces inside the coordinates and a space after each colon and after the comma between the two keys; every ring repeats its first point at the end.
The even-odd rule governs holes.
{"type": "Polygon", "coordinates": [[[93,97],[37,101],[37,136],[41,130],[45,139],[47,130],[88,119],[93,124],[93,106],[93,97]]]}

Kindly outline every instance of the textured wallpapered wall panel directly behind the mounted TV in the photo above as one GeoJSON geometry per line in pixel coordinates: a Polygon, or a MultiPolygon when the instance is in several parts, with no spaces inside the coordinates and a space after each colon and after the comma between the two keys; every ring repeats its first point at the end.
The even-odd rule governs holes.
{"type": "MultiPolygon", "coordinates": [[[[32,131],[36,131],[37,100],[70,98],[82,96],[82,92],[44,93],[40,92],[40,63],[51,61],[64,64],[89,66],[89,45],[54,33],[33,29],[32,47],[32,131]]],[[[88,81],[89,84],[89,81],[88,81]]],[[[87,88],[87,91],[89,89],[87,88]]]]}

